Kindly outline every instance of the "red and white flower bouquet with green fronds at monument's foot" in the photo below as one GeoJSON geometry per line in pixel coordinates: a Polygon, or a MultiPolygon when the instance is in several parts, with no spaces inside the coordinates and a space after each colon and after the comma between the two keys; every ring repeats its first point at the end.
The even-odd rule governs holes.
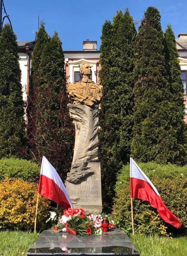
{"type": "Polygon", "coordinates": [[[72,233],[74,235],[101,235],[103,233],[101,215],[85,215],[85,211],[82,208],[76,208],[64,211],[63,216],[60,219],[60,223],[65,225],[63,231],[72,233]]]}

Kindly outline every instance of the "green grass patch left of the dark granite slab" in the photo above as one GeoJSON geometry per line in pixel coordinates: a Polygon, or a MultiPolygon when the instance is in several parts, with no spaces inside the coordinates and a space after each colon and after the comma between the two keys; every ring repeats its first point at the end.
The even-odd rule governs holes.
{"type": "Polygon", "coordinates": [[[0,256],[25,256],[38,236],[38,233],[1,231],[0,256]]]}

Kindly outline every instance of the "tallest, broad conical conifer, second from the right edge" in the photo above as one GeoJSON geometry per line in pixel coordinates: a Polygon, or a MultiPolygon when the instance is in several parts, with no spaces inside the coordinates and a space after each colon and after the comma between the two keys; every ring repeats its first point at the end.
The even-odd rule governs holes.
{"type": "Polygon", "coordinates": [[[132,157],[142,162],[179,161],[164,44],[160,12],[151,6],[144,13],[136,40],[132,157]]]}

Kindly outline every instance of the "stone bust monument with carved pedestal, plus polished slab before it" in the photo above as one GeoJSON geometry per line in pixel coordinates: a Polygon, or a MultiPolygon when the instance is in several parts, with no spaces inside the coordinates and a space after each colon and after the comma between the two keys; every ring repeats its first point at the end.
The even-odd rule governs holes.
{"type": "MultiPolygon", "coordinates": [[[[102,212],[101,168],[98,162],[98,104],[103,87],[91,81],[91,67],[80,67],[82,81],[67,85],[73,104],[68,104],[75,124],[75,149],[66,189],[74,207],[86,214],[102,212]]],[[[27,255],[139,255],[126,233],[111,229],[102,236],[75,236],[46,230],[27,252],[27,255]]]]}

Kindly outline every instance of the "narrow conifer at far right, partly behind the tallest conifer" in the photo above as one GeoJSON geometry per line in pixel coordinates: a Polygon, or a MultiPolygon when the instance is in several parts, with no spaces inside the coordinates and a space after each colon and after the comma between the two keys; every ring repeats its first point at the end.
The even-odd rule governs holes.
{"type": "Polygon", "coordinates": [[[169,24],[165,30],[165,56],[169,75],[172,97],[173,133],[176,138],[176,151],[179,153],[174,159],[177,164],[186,163],[186,126],[184,123],[184,89],[181,81],[181,67],[179,53],[176,48],[175,35],[169,24]]]}

